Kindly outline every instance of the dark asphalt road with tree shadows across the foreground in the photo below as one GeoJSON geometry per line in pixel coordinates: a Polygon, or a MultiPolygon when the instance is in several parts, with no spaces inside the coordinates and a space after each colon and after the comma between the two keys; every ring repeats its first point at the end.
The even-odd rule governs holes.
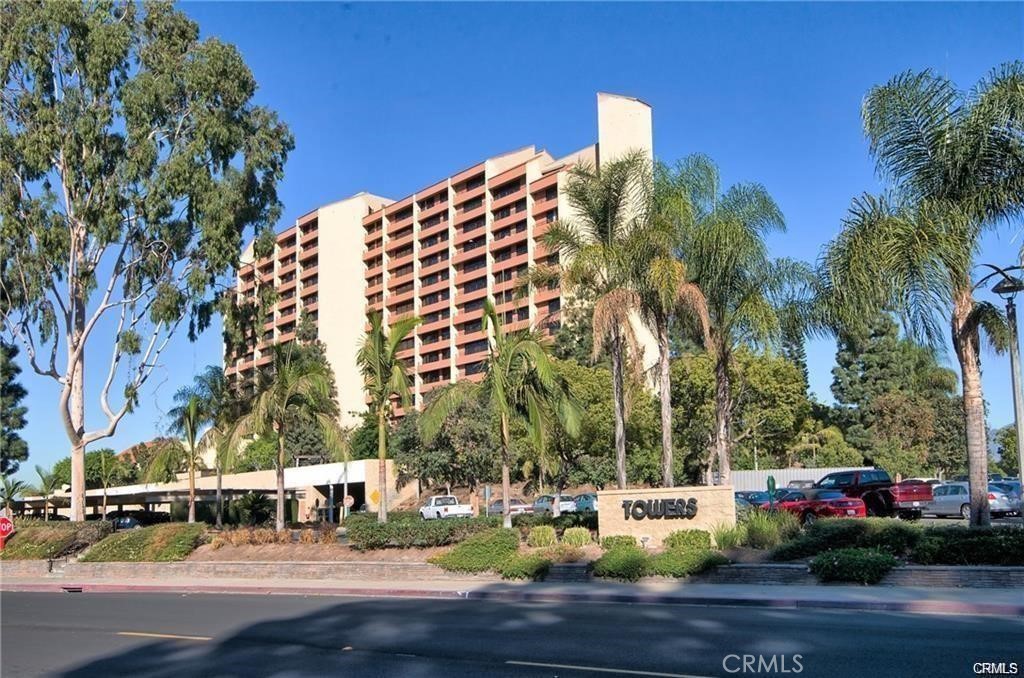
{"type": "Polygon", "coordinates": [[[3,593],[0,613],[4,678],[1024,673],[1024,620],[982,617],[145,593],[3,593]]]}

